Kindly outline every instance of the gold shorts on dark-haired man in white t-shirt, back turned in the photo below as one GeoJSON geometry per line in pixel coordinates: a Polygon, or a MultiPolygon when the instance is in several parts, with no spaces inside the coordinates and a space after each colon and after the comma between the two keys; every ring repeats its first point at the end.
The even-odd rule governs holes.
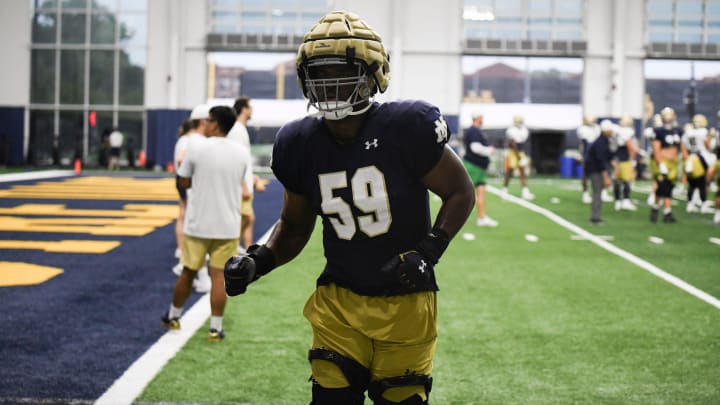
{"type": "Polygon", "coordinates": [[[239,239],[206,239],[185,234],[180,262],[184,267],[197,271],[205,265],[205,255],[209,254],[210,267],[225,268],[225,262],[237,254],[239,239]]]}

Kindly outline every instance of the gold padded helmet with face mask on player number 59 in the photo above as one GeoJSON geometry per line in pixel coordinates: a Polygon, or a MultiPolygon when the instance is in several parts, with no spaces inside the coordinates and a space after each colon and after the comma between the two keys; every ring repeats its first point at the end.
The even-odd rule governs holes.
{"type": "Polygon", "coordinates": [[[308,107],[327,119],[367,111],[370,99],[390,81],[380,35],[347,11],[330,12],[305,34],[295,65],[308,107]]]}

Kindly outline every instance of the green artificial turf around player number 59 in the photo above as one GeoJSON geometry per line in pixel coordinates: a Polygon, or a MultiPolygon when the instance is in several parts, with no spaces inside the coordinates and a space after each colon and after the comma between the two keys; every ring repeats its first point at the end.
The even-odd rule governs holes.
{"type": "MultiPolygon", "coordinates": [[[[531,190],[534,203],[720,296],[710,216],[681,205],[679,223],[651,224],[638,194],[639,211],[605,204],[606,226],[591,227],[578,180],[533,179],[531,190]]],[[[478,228],[473,213],[436,268],[431,403],[720,403],[720,309],[540,214],[494,194],[487,203],[500,226],[478,228]]],[[[320,229],[301,256],[228,300],[224,342],[201,328],[138,400],[309,403],[302,307],[323,263],[320,229]]]]}

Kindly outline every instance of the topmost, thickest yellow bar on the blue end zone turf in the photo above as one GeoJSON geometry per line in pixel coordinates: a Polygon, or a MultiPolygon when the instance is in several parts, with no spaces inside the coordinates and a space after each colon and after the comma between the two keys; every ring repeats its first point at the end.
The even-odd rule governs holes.
{"type": "Polygon", "coordinates": [[[64,181],[16,185],[0,190],[0,198],[176,201],[175,179],[79,177],[64,181]]]}

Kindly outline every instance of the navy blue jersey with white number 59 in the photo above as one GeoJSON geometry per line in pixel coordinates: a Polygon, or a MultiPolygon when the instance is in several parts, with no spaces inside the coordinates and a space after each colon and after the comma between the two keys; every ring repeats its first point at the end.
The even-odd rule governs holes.
{"type": "Polygon", "coordinates": [[[315,117],[280,129],[272,170],[322,217],[327,264],[318,284],[363,295],[387,284],[379,268],[430,230],[421,178],[440,160],[447,138],[438,108],[420,101],[374,103],[347,144],[315,117]]]}

